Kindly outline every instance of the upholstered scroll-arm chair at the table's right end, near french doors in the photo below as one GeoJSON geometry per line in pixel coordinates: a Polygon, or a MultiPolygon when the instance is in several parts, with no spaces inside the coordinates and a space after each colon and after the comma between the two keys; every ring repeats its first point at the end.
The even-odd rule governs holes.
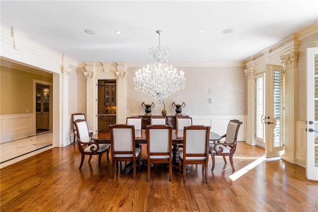
{"type": "Polygon", "coordinates": [[[233,171],[235,171],[234,163],[233,163],[233,155],[237,148],[239,126],[241,124],[242,122],[239,120],[236,120],[236,119],[230,120],[228,124],[227,133],[221,136],[222,138],[225,137],[225,141],[218,144],[209,145],[209,153],[211,154],[211,157],[212,157],[212,171],[214,170],[214,167],[215,167],[215,155],[223,156],[223,160],[225,164],[227,163],[225,156],[229,156],[232,169],[233,171]]]}

